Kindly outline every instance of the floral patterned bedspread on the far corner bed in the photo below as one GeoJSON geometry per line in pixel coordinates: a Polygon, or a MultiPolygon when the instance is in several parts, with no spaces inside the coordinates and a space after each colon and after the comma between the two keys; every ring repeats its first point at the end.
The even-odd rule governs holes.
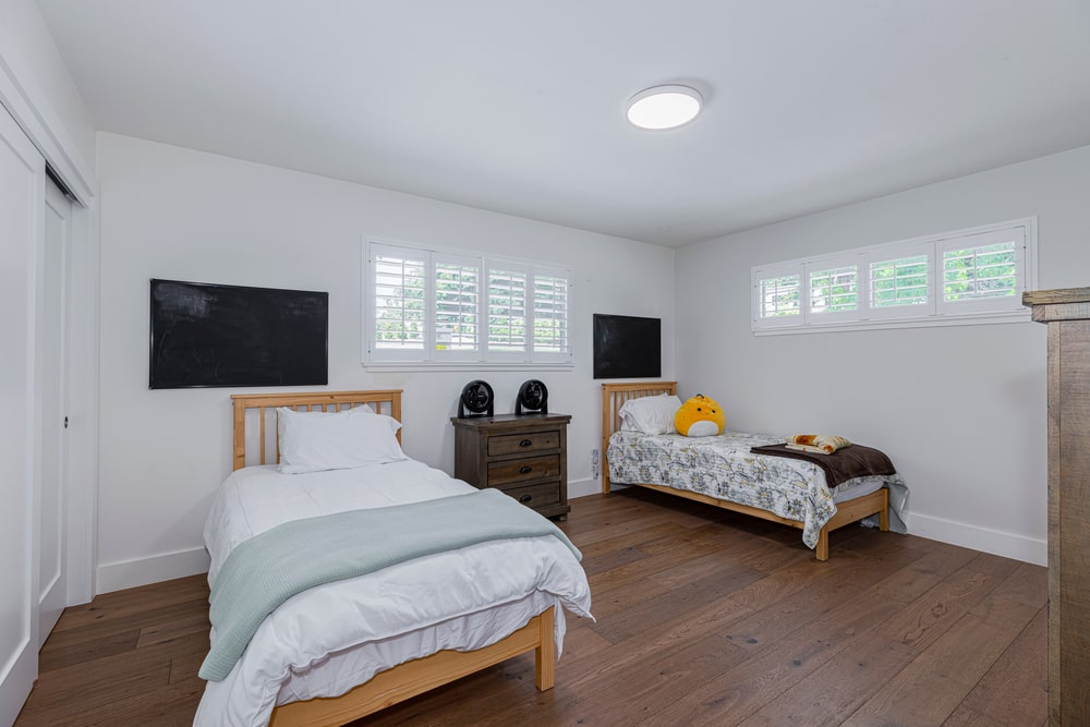
{"type": "MultiPolygon", "coordinates": [[[[813,548],[819,531],[836,514],[825,473],[812,462],[753,455],[751,447],[783,444],[783,437],[724,432],[717,437],[615,432],[607,451],[609,478],[703,493],[749,505],[803,523],[802,542],[813,548]]],[[[891,528],[905,532],[899,517],[907,488],[900,476],[881,477],[891,488],[891,528]]],[[[850,487],[849,480],[840,488],[850,487]]]]}

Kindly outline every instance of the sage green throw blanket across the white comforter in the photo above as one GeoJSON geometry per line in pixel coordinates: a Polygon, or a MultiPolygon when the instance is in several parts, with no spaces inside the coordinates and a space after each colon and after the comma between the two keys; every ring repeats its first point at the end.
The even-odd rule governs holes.
{"type": "Polygon", "coordinates": [[[496,489],[293,520],[235,546],[216,577],[216,641],[199,676],[222,681],[266,616],[306,589],[477,543],[554,535],[559,528],[496,489]]]}

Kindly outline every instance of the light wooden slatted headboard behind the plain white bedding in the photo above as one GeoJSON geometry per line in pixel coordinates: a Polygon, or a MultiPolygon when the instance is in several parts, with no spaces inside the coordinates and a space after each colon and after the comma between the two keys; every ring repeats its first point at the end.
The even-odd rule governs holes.
{"type": "MultiPolygon", "coordinates": [[[[265,464],[280,461],[277,407],[295,411],[339,412],[360,404],[371,404],[379,414],[401,421],[401,389],[374,391],[307,391],[303,393],[232,393],[234,402],[234,457],[232,469],[246,464],[265,464]],[[246,422],[256,424],[256,436],[251,429],[247,443],[246,422]],[[266,437],[266,433],[271,436],[266,437]],[[249,447],[247,447],[249,444],[249,447]],[[270,446],[271,445],[271,446],[270,446]],[[247,458],[247,451],[250,457],[247,458]]],[[[398,441],[401,431],[398,429],[398,441]]]]}

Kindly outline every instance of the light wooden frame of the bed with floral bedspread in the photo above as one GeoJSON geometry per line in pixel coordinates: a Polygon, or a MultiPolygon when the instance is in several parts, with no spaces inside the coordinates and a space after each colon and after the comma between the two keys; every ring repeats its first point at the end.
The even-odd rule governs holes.
{"type": "MultiPolygon", "coordinates": [[[[625,405],[626,401],[631,399],[639,399],[640,397],[655,397],[662,393],[667,393],[671,396],[677,396],[677,381],[638,381],[638,383],[626,383],[626,384],[603,384],[602,385],[602,492],[608,495],[610,490],[609,483],[609,460],[608,460],[608,449],[609,449],[609,437],[614,432],[620,428],[620,408],[625,405]]],[[[716,497],[710,495],[704,495],[702,493],[694,493],[687,489],[678,489],[676,487],[670,487],[668,485],[653,485],[646,483],[625,483],[626,485],[635,485],[638,487],[647,487],[650,489],[657,489],[661,493],[668,493],[670,495],[676,495],[678,497],[685,497],[690,500],[697,500],[698,502],[704,502],[706,505],[714,505],[715,507],[723,508],[725,510],[730,510],[732,512],[741,512],[743,514],[751,514],[755,518],[761,518],[763,520],[771,520],[773,522],[783,523],[785,525],[790,525],[791,528],[798,528],[802,530],[806,525],[800,520],[789,520],[787,518],[782,518],[774,512],[767,510],[761,510],[760,508],[750,507],[748,505],[739,505],[737,502],[731,502],[729,500],[720,500],[716,497]]],[[[818,536],[818,545],[814,547],[814,554],[818,560],[828,560],[828,534],[836,530],[837,528],[843,528],[844,525],[849,525],[853,522],[859,522],[863,518],[872,514],[879,516],[879,530],[886,532],[889,530],[889,490],[886,487],[875,490],[869,495],[863,495],[862,497],[857,497],[851,500],[845,500],[843,502],[837,502],[836,514],[825,523],[825,526],[821,529],[818,536]]]]}

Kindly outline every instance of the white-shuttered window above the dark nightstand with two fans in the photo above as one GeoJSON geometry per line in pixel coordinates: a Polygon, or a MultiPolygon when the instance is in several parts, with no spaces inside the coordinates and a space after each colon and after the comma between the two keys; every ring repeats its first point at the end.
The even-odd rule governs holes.
{"type": "Polygon", "coordinates": [[[570,368],[570,269],[400,242],[365,253],[365,365],[570,368]]]}

